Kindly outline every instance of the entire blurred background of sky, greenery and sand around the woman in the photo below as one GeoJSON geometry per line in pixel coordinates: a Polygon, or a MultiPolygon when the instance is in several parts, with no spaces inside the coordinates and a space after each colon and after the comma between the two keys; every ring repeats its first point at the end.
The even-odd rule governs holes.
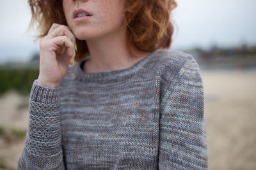
{"type": "MultiPolygon", "coordinates": [[[[256,169],[256,1],[177,0],[170,50],[191,53],[205,92],[209,169],[256,169]]],[[[0,169],[17,169],[39,45],[26,0],[0,1],[0,169]]]]}

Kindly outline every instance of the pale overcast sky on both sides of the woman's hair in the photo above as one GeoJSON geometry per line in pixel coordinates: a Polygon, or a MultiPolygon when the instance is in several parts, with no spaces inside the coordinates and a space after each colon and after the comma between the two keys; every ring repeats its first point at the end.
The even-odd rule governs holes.
{"type": "MultiPolygon", "coordinates": [[[[111,1],[111,0],[108,0],[111,1]]],[[[212,45],[256,45],[255,0],[177,0],[173,11],[172,50],[212,45]]],[[[27,0],[0,1],[0,63],[29,60],[38,52],[35,32],[26,32],[31,17],[27,0]]]]}

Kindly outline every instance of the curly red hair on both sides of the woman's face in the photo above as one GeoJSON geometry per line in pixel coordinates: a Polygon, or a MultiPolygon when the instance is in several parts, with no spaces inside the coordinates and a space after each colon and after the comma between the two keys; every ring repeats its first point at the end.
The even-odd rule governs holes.
{"type": "MultiPolygon", "coordinates": [[[[28,0],[28,3],[32,14],[29,28],[37,24],[40,31],[36,39],[46,36],[53,23],[67,25],[62,1],[28,0]]],[[[123,26],[127,27],[129,44],[144,52],[170,48],[173,34],[170,14],[176,6],[175,0],[125,0],[123,26]]],[[[80,61],[88,55],[88,47],[86,41],[76,39],[76,43],[76,61],[80,61]]]]}

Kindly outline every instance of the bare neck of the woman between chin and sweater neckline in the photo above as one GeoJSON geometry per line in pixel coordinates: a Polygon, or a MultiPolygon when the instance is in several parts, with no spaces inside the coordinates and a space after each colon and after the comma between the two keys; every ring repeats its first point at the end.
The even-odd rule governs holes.
{"type": "Polygon", "coordinates": [[[147,57],[150,52],[142,52],[132,47],[132,53],[138,57],[132,57],[127,46],[125,31],[116,31],[115,34],[86,40],[91,59],[84,63],[85,73],[97,73],[125,69],[147,57]]]}

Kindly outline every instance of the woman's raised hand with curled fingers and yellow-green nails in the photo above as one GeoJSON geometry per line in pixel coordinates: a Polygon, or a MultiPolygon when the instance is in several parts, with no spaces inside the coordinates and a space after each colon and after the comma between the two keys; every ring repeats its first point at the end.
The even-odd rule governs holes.
{"type": "Polygon", "coordinates": [[[76,55],[76,38],[66,25],[52,24],[48,34],[40,39],[38,84],[55,88],[68,71],[76,55]]]}

